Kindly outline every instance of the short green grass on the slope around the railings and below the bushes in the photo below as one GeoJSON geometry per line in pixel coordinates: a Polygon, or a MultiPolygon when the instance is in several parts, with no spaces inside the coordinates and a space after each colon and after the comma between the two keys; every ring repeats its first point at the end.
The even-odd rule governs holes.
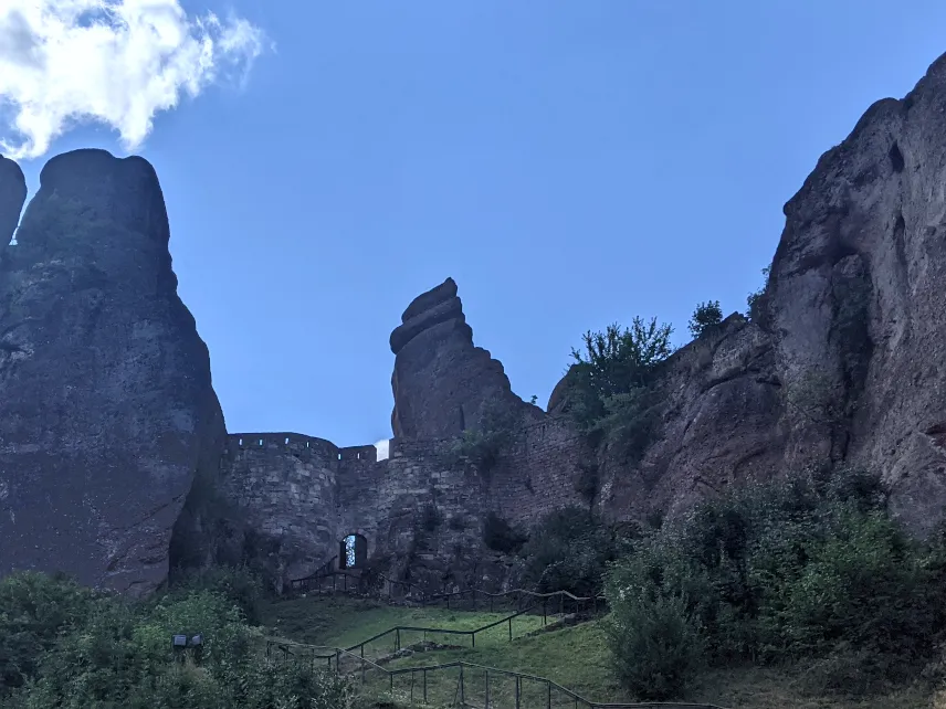
{"type": "MultiPolygon", "coordinates": [[[[402,609],[347,599],[298,599],[269,606],[265,623],[282,637],[301,643],[349,647],[395,625],[424,625],[456,629],[480,627],[504,617],[503,613],[472,613],[445,609],[402,609]]],[[[610,666],[609,650],[601,621],[585,623],[526,637],[526,633],[542,625],[542,618],[526,616],[514,624],[514,637],[508,641],[508,628],[502,626],[487,636],[477,637],[476,647],[416,653],[395,659],[387,668],[431,667],[464,660],[497,669],[534,674],[553,679],[578,695],[598,702],[633,701],[619,687],[610,666]],[[498,631],[498,632],[496,632],[498,631]]],[[[401,645],[421,639],[402,637],[401,645]]],[[[469,643],[469,638],[433,637],[427,639],[454,645],[469,643]]],[[[367,656],[378,657],[390,653],[390,638],[371,647],[367,656]]],[[[376,696],[385,694],[390,685],[387,675],[367,676],[376,696]]],[[[430,706],[451,706],[460,691],[459,669],[427,673],[427,696],[430,706]]],[[[485,706],[486,677],[482,670],[464,669],[464,696],[476,706],[485,706]]],[[[423,696],[423,673],[398,676],[395,696],[398,705],[409,706],[410,697],[420,703],[423,696]]],[[[746,668],[714,670],[703,675],[697,685],[682,699],[707,702],[732,709],[946,709],[946,701],[935,700],[928,689],[916,687],[870,700],[812,698],[806,696],[797,674],[770,669],[746,668]],[[936,701],[936,703],[934,703],[936,701]]],[[[515,680],[495,674],[490,677],[491,706],[497,709],[515,706],[515,680]]],[[[545,707],[548,700],[544,684],[525,681],[522,685],[523,709],[545,707]]],[[[382,706],[382,705],[378,705],[382,706]]],[[[390,706],[390,705],[388,705],[390,706]]],[[[551,706],[574,707],[574,700],[554,692],[551,706]]]]}

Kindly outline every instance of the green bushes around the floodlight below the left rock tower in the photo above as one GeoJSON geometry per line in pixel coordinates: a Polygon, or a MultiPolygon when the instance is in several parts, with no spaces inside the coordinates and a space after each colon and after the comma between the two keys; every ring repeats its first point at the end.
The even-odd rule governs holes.
{"type": "MultiPolygon", "coordinates": [[[[146,602],[18,573],[0,581],[0,703],[10,709],[344,709],[350,687],[265,663],[248,622],[256,592],[219,571],[146,602]],[[176,634],[204,643],[175,650],[176,634]]],[[[262,593],[257,586],[257,592],[262,593]]]]}

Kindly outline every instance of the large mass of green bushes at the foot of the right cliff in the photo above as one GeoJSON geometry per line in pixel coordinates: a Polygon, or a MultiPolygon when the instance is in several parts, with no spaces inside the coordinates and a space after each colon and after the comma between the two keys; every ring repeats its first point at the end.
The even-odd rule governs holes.
{"type": "Polygon", "coordinates": [[[908,538],[885,500],[874,477],[809,472],[637,540],[607,582],[624,686],[663,698],[705,665],[812,660],[812,691],[917,677],[944,638],[946,544],[908,538]]]}

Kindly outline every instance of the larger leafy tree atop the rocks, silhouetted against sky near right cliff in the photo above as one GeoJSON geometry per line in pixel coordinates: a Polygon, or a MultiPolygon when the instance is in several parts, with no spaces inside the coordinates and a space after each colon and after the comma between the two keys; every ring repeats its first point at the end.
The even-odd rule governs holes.
{"type": "Polygon", "coordinates": [[[585,351],[574,349],[570,413],[598,445],[606,442],[630,463],[640,461],[658,424],[654,374],[673,353],[670,325],[634,318],[630,328],[609,325],[585,334],[585,351]]]}

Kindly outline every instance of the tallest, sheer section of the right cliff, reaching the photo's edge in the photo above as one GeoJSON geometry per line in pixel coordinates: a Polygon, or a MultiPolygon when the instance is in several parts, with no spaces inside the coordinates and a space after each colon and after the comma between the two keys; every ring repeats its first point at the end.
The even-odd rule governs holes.
{"type": "Polygon", "coordinates": [[[786,387],[831,402],[795,417],[789,462],[820,444],[882,473],[917,531],[946,506],[944,112],[946,56],[821,157],[785,207],[766,294],[786,387]]]}

